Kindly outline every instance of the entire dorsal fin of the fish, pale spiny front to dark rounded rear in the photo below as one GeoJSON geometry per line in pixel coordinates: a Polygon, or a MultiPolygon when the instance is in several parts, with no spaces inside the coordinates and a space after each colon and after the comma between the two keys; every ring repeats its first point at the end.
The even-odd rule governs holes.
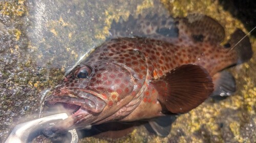
{"type": "Polygon", "coordinates": [[[113,21],[109,32],[109,39],[145,37],[173,44],[181,44],[179,38],[186,37],[194,42],[220,43],[225,37],[224,28],[216,20],[201,14],[191,14],[184,18],[139,15],[137,19],[130,15],[127,21],[122,18],[118,22],[113,21]]]}

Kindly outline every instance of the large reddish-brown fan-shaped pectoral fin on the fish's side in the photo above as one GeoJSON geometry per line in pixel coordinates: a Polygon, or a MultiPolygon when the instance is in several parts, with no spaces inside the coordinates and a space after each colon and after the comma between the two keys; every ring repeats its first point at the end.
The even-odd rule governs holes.
{"type": "Polygon", "coordinates": [[[196,108],[214,90],[214,84],[201,66],[179,66],[152,84],[159,93],[162,107],[171,113],[185,113],[196,108]]]}

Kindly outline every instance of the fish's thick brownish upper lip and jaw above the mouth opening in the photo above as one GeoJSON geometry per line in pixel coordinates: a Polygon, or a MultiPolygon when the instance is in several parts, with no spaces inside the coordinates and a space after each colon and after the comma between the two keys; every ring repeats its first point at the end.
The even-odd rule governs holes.
{"type": "MultiPolygon", "coordinates": [[[[80,91],[80,90],[79,90],[80,91]]],[[[106,102],[99,98],[98,96],[82,91],[82,97],[77,97],[77,95],[52,95],[45,101],[45,105],[48,107],[54,106],[56,104],[63,104],[65,108],[65,103],[68,105],[73,105],[74,111],[73,114],[76,114],[80,109],[88,110],[92,113],[101,112],[106,102]],[[79,108],[77,106],[80,106],[79,108]]]]}

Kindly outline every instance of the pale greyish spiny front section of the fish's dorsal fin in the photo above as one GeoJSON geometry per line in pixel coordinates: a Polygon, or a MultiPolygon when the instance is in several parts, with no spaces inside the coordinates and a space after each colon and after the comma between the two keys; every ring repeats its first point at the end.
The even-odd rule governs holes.
{"type": "Polygon", "coordinates": [[[155,15],[139,15],[138,18],[129,16],[127,21],[119,19],[111,25],[110,37],[145,37],[157,40],[172,41],[178,38],[178,28],[173,17],[155,15]]]}

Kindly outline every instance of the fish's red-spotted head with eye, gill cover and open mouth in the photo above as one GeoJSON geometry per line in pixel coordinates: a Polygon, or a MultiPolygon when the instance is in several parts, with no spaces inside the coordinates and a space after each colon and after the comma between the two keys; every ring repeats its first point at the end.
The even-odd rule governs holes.
{"type": "Polygon", "coordinates": [[[105,61],[84,62],[72,69],[53,89],[45,105],[70,115],[60,124],[61,128],[79,128],[113,115],[131,100],[129,95],[133,89],[134,78],[123,65],[105,61]]]}

